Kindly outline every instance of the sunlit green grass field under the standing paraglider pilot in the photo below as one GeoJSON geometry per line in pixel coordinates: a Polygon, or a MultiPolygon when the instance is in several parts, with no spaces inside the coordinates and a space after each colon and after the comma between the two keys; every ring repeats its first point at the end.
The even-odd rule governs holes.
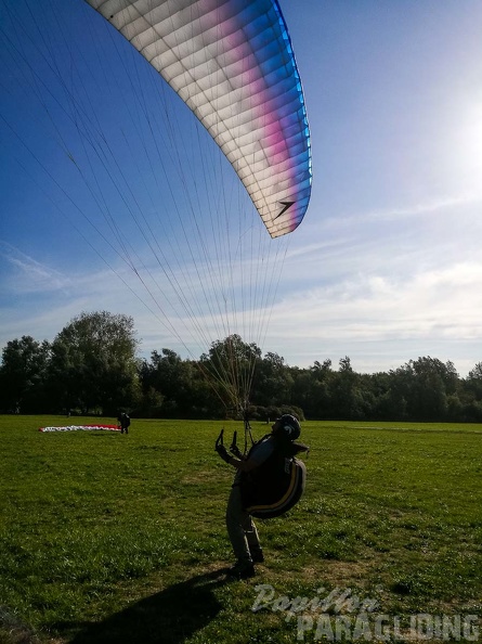
{"type": "Polygon", "coordinates": [[[304,423],[305,494],[233,582],[221,423],[49,424],[0,416],[0,642],[479,640],[482,427],[304,423]]]}

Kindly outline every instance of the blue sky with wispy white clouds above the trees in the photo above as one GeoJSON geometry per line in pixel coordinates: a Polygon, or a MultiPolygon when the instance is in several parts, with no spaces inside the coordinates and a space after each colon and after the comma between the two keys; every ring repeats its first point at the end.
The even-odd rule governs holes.
{"type": "Polygon", "coordinates": [[[22,335],[52,340],[81,311],[105,309],[134,318],[144,355],[168,347],[196,357],[226,329],[249,340],[239,311],[256,308],[265,309],[256,342],[291,365],[329,358],[337,368],[349,356],[355,371],[373,373],[431,356],[465,376],[482,360],[482,3],[281,4],[305,92],[312,199],[279,243],[256,232],[262,250],[239,250],[253,223],[229,243],[201,235],[209,257],[218,248],[220,274],[239,270],[244,280],[236,320],[222,329],[222,288],[209,271],[198,275],[203,292],[192,279],[209,269],[205,249],[191,246],[197,223],[183,236],[177,217],[247,212],[231,168],[84,3],[42,0],[35,21],[18,23],[23,0],[0,2],[0,346],[22,335]],[[120,192],[108,178],[114,162],[96,167],[102,153],[86,150],[97,118],[129,175],[120,192]],[[155,228],[159,199],[167,221],[155,228]],[[144,215],[130,223],[121,215],[138,206],[142,234],[144,215]],[[155,295],[166,265],[149,253],[168,250],[184,307],[198,307],[182,320],[172,278],[155,295]],[[145,269],[143,282],[132,266],[145,269]],[[248,298],[255,273],[270,275],[268,308],[248,298]]]}

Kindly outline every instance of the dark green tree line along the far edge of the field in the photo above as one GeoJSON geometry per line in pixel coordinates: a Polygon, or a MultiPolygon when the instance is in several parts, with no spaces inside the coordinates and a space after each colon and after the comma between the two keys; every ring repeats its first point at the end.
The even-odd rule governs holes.
{"type": "MultiPolygon", "coordinates": [[[[349,357],[290,366],[233,335],[213,343],[198,360],[168,348],[138,355],[132,318],[107,311],[81,313],[53,339],[10,340],[0,365],[2,413],[82,413],[138,417],[219,418],[235,414],[207,373],[220,356],[255,364],[249,410],[268,420],[283,411],[302,418],[482,422],[482,362],[459,377],[451,361],[419,357],[399,369],[356,373],[349,357]]],[[[251,366],[249,368],[251,369],[251,366]]]]}

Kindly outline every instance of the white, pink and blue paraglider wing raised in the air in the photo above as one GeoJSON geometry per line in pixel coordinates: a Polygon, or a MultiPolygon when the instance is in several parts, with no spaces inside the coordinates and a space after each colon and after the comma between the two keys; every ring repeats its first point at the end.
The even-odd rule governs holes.
{"type": "Polygon", "coordinates": [[[87,0],[210,132],[269,233],[291,232],[311,193],[303,92],[276,0],[87,0]]]}

